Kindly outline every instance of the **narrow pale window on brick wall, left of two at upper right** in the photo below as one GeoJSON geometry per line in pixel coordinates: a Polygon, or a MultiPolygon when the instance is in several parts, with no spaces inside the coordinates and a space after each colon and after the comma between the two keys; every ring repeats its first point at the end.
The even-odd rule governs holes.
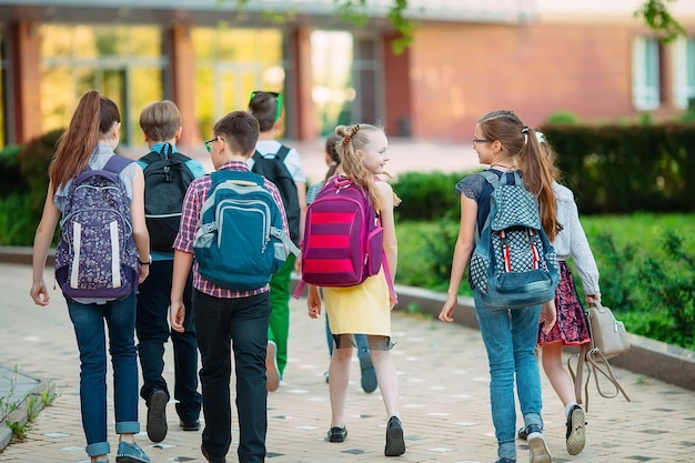
{"type": "Polygon", "coordinates": [[[661,100],[661,47],[657,39],[638,37],[633,48],[633,104],[653,110],[661,100]]]}

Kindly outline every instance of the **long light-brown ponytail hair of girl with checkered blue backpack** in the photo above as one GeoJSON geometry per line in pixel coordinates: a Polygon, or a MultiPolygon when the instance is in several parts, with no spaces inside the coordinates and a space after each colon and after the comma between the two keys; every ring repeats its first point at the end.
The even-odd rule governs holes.
{"type": "Polygon", "coordinates": [[[538,200],[541,223],[551,241],[558,233],[553,180],[556,169],[543,150],[533,129],[524,125],[513,111],[492,111],[477,120],[483,138],[500,141],[512,161],[520,167],[526,189],[538,200]]]}

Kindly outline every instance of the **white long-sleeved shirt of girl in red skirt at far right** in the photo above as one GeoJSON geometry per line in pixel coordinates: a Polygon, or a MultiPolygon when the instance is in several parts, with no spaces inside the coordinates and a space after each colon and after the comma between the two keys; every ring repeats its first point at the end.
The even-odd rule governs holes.
{"type": "Polygon", "coordinates": [[[571,256],[580,272],[584,293],[598,294],[598,268],[580,222],[574,194],[557,182],[553,182],[553,192],[557,204],[557,222],[563,227],[553,242],[557,258],[564,260],[571,256]]]}

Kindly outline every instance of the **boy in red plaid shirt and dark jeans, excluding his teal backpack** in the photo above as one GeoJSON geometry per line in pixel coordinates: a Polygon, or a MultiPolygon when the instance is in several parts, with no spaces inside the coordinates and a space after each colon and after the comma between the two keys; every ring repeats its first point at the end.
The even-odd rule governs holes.
{"type": "MultiPolygon", "coordinates": [[[[249,172],[246,165],[259,137],[255,118],[244,111],[231,112],[214,124],[212,133],[214,137],[205,142],[205,148],[211,153],[218,173],[224,173],[224,177],[234,173],[239,178],[258,178],[261,188],[272,195],[282,215],[283,231],[288,233],[286,215],[278,188],[269,180],[249,172]]],[[[187,308],[183,292],[192,266],[192,304],[202,361],[200,381],[205,415],[202,454],[211,463],[223,463],[232,442],[230,379],[233,346],[240,429],[239,461],[263,462],[268,426],[265,352],[271,311],[270,286],[264,284],[261,288],[233,290],[219,286],[201,275],[199,269],[205,262],[198,258],[194,260],[194,243],[203,204],[212,198],[213,175],[215,173],[194,180],[183,203],[181,227],[174,242],[171,326],[178,332],[184,332],[187,308]]],[[[246,230],[240,229],[242,232],[246,230]]]]}

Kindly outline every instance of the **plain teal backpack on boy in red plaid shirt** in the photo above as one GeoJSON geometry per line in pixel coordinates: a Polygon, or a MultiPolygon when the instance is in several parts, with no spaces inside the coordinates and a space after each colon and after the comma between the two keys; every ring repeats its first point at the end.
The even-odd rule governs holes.
{"type": "Polygon", "coordinates": [[[288,250],[300,252],[283,231],[282,212],[259,174],[220,170],[211,179],[193,241],[198,271],[228,290],[263,288],[288,250]]]}

